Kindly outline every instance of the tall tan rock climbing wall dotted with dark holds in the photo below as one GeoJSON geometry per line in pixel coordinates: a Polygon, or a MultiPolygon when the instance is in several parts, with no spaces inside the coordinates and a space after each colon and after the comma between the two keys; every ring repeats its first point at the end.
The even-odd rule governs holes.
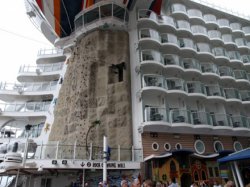
{"type": "MultiPolygon", "coordinates": [[[[77,40],[55,106],[49,141],[131,148],[129,38],[125,31],[98,30],[77,40]],[[91,127],[94,122],[100,125],[91,127]],[[91,128],[90,128],[91,127],[91,128]]],[[[80,157],[84,148],[77,152],[80,157]],[[80,153],[81,152],[81,153],[80,153]]],[[[61,149],[65,155],[72,148],[61,149]]],[[[116,157],[112,150],[112,157],[116,157]]],[[[131,157],[130,151],[121,152],[131,157]]],[[[115,158],[114,158],[115,159],[115,158]]]]}

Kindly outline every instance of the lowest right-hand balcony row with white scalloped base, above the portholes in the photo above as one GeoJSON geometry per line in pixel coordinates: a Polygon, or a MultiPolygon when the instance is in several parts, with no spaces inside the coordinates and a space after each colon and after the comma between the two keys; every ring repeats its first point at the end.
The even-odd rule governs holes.
{"type": "Polygon", "coordinates": [[[238,135],[250,134],[249,117],[145,105],[143,131],[238,135]]]}

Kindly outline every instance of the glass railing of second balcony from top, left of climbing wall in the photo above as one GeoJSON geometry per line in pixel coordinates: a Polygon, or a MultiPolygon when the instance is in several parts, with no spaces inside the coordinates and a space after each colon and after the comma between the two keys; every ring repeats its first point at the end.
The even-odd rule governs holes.
{"type": "Polygon", "coordinates": [[[63,68],[63,63],[44,64],[39,66],[23,65],[19,69],[19,73],[42,73],[59,71],[63,68]]]}

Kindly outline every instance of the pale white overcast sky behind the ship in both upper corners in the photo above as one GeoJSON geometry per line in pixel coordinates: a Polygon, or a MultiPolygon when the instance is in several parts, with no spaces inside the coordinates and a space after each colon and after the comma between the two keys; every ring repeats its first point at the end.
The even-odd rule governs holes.
{"type": "MultiPolygon", "coordinates": [[[[250,14],[250,0],[208,1],[250,14]]],[[[35,65],[38,50],[52,47],[28,19],[23,0],[0,0],[0,41],[0,82],[14,82],[21,65],[35,65]]]]}

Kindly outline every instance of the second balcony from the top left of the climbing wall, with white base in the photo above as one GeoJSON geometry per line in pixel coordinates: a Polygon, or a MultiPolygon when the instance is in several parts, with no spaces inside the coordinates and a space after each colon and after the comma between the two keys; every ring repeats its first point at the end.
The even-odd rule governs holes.
{"type": "Polygon", "coordinates": [[[63,63],[38,66],[23,65],[19,69],[17,80],[20,82],[56,80],[60,78],[62,68],[63,63]]]}

